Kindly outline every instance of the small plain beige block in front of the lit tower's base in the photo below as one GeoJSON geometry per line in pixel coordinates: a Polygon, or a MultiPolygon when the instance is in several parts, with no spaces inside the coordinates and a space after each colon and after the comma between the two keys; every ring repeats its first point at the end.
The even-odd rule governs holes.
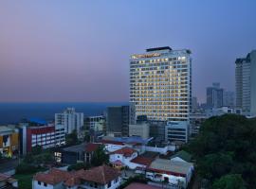
{"type": "Polygon", "coordinates": [[[150,126],[148,123],[137,123],[129,125],[129,136],[139,136],[143,139],[149,138],[150,126]]]}

